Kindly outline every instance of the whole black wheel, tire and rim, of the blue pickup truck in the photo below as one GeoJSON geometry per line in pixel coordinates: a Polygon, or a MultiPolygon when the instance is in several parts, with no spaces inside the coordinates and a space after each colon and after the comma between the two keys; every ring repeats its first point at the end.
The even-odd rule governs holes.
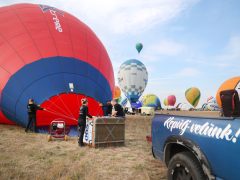
{"type": "Polygon", "coordinates": [[[190,152],[175,154],[168,164],[168,180],[206,180],[198,160],[190,152]]]}

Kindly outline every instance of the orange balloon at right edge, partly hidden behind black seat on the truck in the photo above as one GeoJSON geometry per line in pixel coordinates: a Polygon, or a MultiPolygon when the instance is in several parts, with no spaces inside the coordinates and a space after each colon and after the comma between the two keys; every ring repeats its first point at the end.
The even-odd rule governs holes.
{"type": "Polygon", "coordinates": [[[224,90],[232,90],[235,89],[238,92],[238,95],[240,97],[240,76],[233,77],[231,79],[226,80],[222,85],[219,87],[217,94],[216,94],[216,100],[219,105],[219,107],[222,107],[222,102],[220,99],[220,92],[224,90]]]}

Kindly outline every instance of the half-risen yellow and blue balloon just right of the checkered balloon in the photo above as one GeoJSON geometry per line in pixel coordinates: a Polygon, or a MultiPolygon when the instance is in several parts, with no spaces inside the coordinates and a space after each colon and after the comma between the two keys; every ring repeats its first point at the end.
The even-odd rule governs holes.
{"type": "Polygon", "coordinates": [[[161,109],[159,98],[155,94],[147,94],[141,98],[142,107],[154,107],[154,109],[161,109]]]}

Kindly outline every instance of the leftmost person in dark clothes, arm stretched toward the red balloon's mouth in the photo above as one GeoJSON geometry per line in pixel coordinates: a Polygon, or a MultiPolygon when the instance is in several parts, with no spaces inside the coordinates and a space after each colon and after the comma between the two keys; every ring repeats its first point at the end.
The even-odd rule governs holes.
{"type": "Polygon", "coordinates": [[[35,104],[33,99],[29,99],[27,110],[28,110],[28,124],[25,129],[25,132],[28,132],[30,127],[33,130],[33,132],[36,132],[36,113],[37,110],[44,110],[44,108],[41,108],[40,105],[35,104]]]}

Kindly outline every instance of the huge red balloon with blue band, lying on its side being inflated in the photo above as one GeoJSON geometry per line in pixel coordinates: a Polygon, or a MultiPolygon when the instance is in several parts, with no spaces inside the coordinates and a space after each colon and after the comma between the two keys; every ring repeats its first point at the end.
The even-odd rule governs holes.
{"type": "Polygon", "coordinates": [[[47,109],[37,126],[58,118],[76,125],[83,97],[92,115],[102,114],[98,102],[112,98],[113,68],[87,25],[54,7],[16,4],[0,8],[0,33],[2,117],[26,126],[29,98],[47,109]]]}

